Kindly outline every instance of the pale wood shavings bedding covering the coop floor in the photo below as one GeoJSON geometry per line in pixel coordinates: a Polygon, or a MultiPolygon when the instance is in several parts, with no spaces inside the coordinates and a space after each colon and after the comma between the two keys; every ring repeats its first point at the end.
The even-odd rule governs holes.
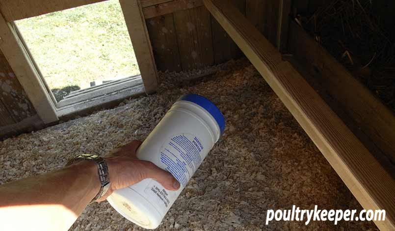
{"type": "MultiPolygon", "coordinates": [[[[211,99],[226,129],[158,230],[377,230],[369,221],[272,221],[267,209],[362,207],[255,68],[244,59],[204,71],[161,73],[158,93],[0,143],[0,183],[64,166],[79,153],[104,155],[143,140],[184,93],[211,99]],[[191,76],[217,71],[188,84],[191,76]]],[[[88,205],[72,231],[143,230],[107,202],[88,205]]]]}

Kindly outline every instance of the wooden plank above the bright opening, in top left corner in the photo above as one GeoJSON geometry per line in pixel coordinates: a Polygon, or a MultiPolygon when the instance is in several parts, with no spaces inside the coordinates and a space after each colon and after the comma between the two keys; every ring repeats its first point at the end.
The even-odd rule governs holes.
{"type": "Polygon", "coordinates": [[[0,10],[7,22],[104,0],[0,0],[0,10]]]}

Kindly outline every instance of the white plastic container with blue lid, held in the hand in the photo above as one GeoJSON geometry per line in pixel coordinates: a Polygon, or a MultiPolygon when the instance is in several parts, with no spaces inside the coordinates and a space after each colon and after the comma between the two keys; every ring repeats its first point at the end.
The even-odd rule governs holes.
{"type": "Polygon", "coordinates": [[[224,117],[210,100],[181,96],[137,150],[139,159],[172,173],[180,189],[168,191],[150,178],[116,190],[107,201],[133,223],[157,228],[224,128],[224,117]]]}

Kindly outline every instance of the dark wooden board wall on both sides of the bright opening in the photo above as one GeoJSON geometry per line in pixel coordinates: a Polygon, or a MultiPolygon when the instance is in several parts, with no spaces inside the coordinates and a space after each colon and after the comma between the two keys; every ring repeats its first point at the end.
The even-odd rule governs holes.
{"type": "MultiPolygon", "coordinates": [[[[101,0],[0,0],[7,21],[101,0]],[[52,3],[51,3],[52,2],[52,3]],[[34,6],[26,7],[33,4],[34,6]],[[36,7],[36,8],[35,8],[36,7]],[[59,8],[60,7],[60,8],[59,8]]],[[[286,0],[287,1],[287,0],[286,0]]],[[[140,0],[160,71],[201,69],[243,56],[237,45],[203,6],[203,0],[140,0]]],[[[279,0],[230,0],[273,44],[276,44],[279,0]]],[[[0,139],[43,126],[24,89],[0,51],[0,139]]]]}

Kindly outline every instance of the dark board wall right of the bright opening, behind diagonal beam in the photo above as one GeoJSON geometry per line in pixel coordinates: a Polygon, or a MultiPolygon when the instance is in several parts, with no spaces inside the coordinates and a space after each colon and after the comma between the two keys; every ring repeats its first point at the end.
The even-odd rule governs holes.
{"type": "MultiPolygon", "coordinates": [[[[202,0],[142,2],[149,2],[143,4],[143,14],[158,70],[199,69],[242,56],[237,45],[203,6],[202,0]]],[[[270,42],[276,44],[279,0],[230,0],[230,4],[234,4],[270,42]]]]}

